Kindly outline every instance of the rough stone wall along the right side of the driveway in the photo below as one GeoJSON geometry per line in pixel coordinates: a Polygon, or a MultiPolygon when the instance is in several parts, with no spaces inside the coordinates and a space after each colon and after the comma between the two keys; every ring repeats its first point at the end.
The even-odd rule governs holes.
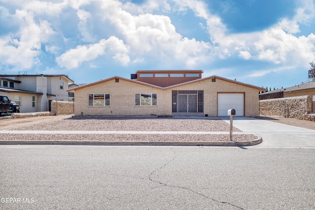
{"type": "Polygon", "coordinates": [[[259,101],[259,115],[315,121],[312,99],[308,95],[259,101]]]}

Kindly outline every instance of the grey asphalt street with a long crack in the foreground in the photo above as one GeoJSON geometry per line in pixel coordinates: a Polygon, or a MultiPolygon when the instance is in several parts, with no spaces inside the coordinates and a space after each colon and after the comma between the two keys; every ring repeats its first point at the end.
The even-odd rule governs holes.
{"type": "Polygon", "coordinates": [[[314,149],[16,145],[0,154],[0,209],[315,209],[314,149]]]}

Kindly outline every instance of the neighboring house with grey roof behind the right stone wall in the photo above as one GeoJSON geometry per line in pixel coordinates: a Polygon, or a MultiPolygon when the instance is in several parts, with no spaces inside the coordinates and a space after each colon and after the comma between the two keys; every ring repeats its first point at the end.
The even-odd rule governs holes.
{"type": "Polygon", "coordinates": [[[315,113],[315,82],[306,82],[289,88],[272,90],[259,94],[259,100],[271,98],[286,98],[293,96],[309,95],[312,100],[312,112],[315,113]]]}

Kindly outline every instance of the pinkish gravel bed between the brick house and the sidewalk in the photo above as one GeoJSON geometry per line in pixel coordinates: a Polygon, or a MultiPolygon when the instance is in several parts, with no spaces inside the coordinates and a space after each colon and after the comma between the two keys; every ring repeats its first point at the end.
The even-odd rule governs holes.
{"type": "MultiPolygon", "coordinates": [[[[172,118],[64,119],[11,130],[120,130],[120,131],[219,131],[229,132],[223,120],[172,118]]],[[[233,131],[241,131],[233,128],[233,131]]]]}

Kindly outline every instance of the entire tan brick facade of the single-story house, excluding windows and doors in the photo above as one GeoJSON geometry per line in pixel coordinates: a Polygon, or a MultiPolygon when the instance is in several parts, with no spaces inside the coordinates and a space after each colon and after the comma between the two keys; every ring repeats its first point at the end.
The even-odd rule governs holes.
{"type": "MultiPolygon", "coordinates": [[[[220,77],[219,77],[220,78],[220,77]]],[[[218,93],[244,93],[245,116],[259,115],[259,88],[234,81],[205,78],[196,82],[159,88],[140,82],[110,78],[75,88],[75,115],[172,115],[172,90],[204,90],[204,114],[218,115],[218,93]],[[110,106],[89,106],[89,94],[110,94],[110,106]],[[136,93],[157,93],[157,106],[135,106],[136,93]]]]}

